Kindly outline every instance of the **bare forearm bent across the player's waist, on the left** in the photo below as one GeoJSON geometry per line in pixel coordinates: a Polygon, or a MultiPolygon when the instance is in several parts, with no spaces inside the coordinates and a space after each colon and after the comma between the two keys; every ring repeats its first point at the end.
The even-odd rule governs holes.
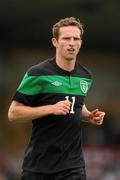
{"type": "Polygon", "coordinates": [[[8,111],[10,121],[31,121],[53,113],[52,105],[29,107],[25,105],[11,106],[8,111]]]}

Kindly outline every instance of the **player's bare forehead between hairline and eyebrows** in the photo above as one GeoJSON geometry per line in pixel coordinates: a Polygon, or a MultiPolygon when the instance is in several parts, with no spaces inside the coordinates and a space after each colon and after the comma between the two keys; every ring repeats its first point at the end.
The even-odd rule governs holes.
{"type": "Polygon", "coordinates": [[[80,36],[80,33],[77,26],[64,26],[59,29],[59,36],[80,36]]]}

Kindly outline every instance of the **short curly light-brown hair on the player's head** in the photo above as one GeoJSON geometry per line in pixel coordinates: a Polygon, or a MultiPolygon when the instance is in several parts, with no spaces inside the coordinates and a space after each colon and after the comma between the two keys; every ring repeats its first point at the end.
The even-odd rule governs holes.
{"type": "Polygon", "coordinates": [[[67,17],[64,19],[60,19],[56,24],[53,25],[52,28],[52,34],[53,37],[58,39],[59,38],[59,29],[64,26],[76,26],[80,29],[81,32],[81,38],[84,33],[83,30],[83,24],[80,22],[79,19],[76,19],[75,17],[67,17]]]}

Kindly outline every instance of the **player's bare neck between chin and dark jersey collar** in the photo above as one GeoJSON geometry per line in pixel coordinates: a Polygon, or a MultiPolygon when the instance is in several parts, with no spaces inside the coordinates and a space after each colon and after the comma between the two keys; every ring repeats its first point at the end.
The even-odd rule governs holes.
{"type": "Polygon", "coordinates": [[[63,70],[72,71],[75,67],[75,60],[56,57],[56,64],[63,70]]]}

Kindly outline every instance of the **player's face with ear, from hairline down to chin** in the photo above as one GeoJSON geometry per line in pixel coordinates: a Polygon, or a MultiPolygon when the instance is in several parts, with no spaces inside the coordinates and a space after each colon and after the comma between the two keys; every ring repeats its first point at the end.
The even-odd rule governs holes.
{"type": "Polygon", "coordinates": [[[80,35],[80,29],[76,26],[61,27],[59,29],[59,38],[52,39],[53,45],[56,47],[56,55],[69,61],[76,60],[82,44],[80,35]]]}

